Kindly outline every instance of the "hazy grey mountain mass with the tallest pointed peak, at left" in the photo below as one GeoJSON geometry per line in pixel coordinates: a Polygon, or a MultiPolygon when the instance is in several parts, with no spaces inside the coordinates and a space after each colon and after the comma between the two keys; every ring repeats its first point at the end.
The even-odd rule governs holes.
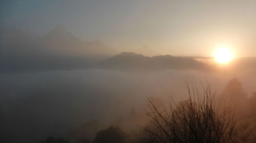
{"type": "Polygon", "coordinates": [[[62,25],[42,37],[0,28],[0,72],[84,69],[115,54],[100,40],[82,41],[62,25]]]}

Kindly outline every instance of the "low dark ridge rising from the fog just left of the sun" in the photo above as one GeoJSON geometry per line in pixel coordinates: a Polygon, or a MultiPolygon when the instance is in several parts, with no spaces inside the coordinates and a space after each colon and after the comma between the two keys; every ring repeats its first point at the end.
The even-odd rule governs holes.
{"type": "Polygon", "coordinates": [[[210,66],[191,58],[171,55],[143,56],[133,52],[122,52],[97,64],[100,69],[112,70],[210,70],[210,66]]]}

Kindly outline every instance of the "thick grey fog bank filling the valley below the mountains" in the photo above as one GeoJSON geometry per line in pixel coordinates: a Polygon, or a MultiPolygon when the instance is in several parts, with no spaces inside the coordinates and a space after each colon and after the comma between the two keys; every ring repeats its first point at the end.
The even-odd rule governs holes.
{"type": "MultiPolygon", "coordinates": [[[[256,88],[256,77],[253,71],[250,73],[238,76],[248,95],[256,88]]],[[[66,135],[70,129],[91,120],[108,126],[132,108],[143,111],[147,98],[186,99],[187,82],[199,87],[209,82],[219,96],[233,75],[192,70],[1,74],[2,129],[6,138],[14,137],[14,142],[36,142],[51,135],[66,135]]]]}

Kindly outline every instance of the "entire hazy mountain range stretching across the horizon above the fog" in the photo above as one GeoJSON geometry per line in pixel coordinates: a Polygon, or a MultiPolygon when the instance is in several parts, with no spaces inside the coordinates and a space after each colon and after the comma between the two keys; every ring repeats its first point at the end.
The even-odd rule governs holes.
{"type": "MultiPolygon", "coordinates": [[[[217,67],[195,60],[198,57],[145,56],[157,54],[147,46],[135,52],[118,54],[100,40],[82,41],[62,25],[57,25],[42,37],[15,28],[0,29],[0,72],[2,73],[92,68],[133,71],[166,69],[211,71],[217,67]]],[[[256,59],[240,59],[230,65],[233,69],[256,67],[256,59]]]]}

